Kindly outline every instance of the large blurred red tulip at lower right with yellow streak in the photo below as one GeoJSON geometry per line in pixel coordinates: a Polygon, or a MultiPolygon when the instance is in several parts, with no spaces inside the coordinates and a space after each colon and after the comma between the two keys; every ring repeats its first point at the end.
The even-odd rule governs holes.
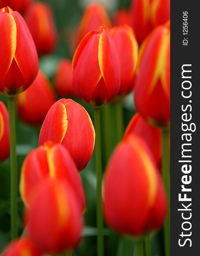
{"type": "Polygon", "coordinates": [[[158,229],[167,203],[148,146],[130,135],[115,149],[104,177],[104,217],[119,233],[140,236],[158,229]]]}

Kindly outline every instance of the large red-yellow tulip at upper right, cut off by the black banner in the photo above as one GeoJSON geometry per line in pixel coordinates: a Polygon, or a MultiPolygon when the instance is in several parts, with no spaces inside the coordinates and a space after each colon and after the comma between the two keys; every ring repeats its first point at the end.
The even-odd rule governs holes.
{"type": "Polygon", "coordinates": [[[157,27],[141,46],[136,68],[135,105],[149,123],[169,126],[170,30],[167,26],[157,27]]]}

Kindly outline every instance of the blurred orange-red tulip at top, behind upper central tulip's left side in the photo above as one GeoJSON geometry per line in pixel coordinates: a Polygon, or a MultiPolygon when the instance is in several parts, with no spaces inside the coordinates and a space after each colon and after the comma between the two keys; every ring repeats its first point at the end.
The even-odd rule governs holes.
{"type": "Polygon", "coordinates": [[[90,31],[99,29],[100,26],[105,26],[107,28],[111,27],[107,12],[100,3],[90,3],[85,8],[81,22],[78,26],[76,44],[79,44],[84,35],[90,31]]]}

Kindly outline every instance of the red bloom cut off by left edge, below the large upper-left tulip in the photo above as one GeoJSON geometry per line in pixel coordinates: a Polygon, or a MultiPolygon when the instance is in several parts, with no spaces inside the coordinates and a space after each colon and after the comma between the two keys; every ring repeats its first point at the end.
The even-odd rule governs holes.
{"type": "Polygon", "coordinates": [[[0,163],[10,154],[9,113],[6,106],[0,101],[0,163]]]}

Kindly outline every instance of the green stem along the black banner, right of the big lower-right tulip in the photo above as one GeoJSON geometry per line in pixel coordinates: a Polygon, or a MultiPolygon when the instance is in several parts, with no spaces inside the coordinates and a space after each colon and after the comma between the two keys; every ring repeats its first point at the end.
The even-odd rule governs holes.
{"type": "Polygon", "coordinates": [[[162,130],[162,178],[168,198],[168,215],[164,223],[165,256],[170,256],[170,171],[168,130],[162,130]]]}

